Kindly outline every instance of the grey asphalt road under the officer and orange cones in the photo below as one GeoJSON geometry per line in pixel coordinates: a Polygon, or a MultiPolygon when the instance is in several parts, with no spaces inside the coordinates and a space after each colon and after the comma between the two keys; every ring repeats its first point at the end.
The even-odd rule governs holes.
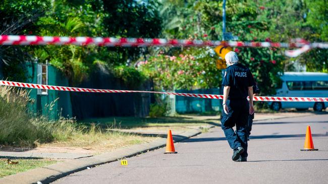
{"type": "MultiPolygon", "coordinates": [[[[174,132],[174,130],[173,130],[174,132]]],[[[54,183],[328,183],[328,114],[254,122],[248,161],[231,160],[221,127],[165,148],[73,173],[54,183]],[[314,147],[300,151],[306,126],[314,147]]]]}

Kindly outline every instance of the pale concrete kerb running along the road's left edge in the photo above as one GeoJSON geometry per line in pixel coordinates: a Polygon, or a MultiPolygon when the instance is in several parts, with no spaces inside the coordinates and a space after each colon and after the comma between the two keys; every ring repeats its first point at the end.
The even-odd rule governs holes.
{"type": "MultiPolygon", "coordinates": [[[[173,136],[173,140],[174,142],[180,142],[200,133],[201,130],[191,130],[180,135],[173,136]]],[[[133,145],[113,152],[35,168],[26,172],[0,178],[0,183],[37,183],[38,181],[41,181],[42,183],[49,183],[73,172],[87,169],[87,167],[117,161],[122,158],[132,157],[140,153],[161,148],[166,145],[166,141],[166,138],[159,138],[150,143],[133,145]]]]}

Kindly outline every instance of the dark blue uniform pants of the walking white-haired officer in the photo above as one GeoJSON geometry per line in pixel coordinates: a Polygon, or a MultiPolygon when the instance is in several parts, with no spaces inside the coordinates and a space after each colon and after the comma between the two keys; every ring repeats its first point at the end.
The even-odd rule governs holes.
{"type": "Polygon", "coordinates": [[[223,112],[221,124],[225,132],[228,143],[232,149],[242,146],[245,151],[242,157],[247,157],[247,129],[246,125],[249,116],[249,105],[247,99],[227,100],[229,113],[223,112]],[[233,127],[236,125],[236,133],[233,127]]]}

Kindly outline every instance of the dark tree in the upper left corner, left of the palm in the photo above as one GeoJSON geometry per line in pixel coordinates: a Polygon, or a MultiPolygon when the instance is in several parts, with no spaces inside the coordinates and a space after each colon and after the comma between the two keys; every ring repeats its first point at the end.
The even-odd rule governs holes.
{"type": "MultiPolygon", "coordinates": [[[[21,2],[2,1],[0,4],[0,34],[24,35],[37,30],[35,22],[44,14],[47,1],[27,0],[21,2]]],[[[0,68],[10,80],[22,81],[25,70],[21,64],[30,60],[27,47],[0,46],[0,68]]]]}

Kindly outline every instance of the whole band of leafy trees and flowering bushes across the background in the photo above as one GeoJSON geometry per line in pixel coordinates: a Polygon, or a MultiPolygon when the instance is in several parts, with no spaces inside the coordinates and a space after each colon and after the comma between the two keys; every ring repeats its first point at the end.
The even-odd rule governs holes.
{"type": "MultiPolygon", "coordinates": [[[[326,0],[228,0],[227,32],[241,41],[327,41],[325,5],[326,0]]],[[[221,40],[222,7],[222,0],[3,0],[0,31],[41,36],[221,40]]],[[[233,49],[250,67],[264,94],[274,93],[278,75],[293,70],[291,63],[303,63],[308,71],[327,72],[325,49],[312,49],[296,58],[285,57],[282,48],[233,49]]],[[[21,77],[17,73],[24,72],[15,69],[17,62],[37,60],[56,66],[71,82],[81,81],[99,63],[117,76],[121,74],[123,80],[127,80],[123,77],[127,73],[135,75],[132,78],[136,80],[144,75],[151,77],[162,89],[219,87],[221,81],[221,71],[215,68],[218,58],[207,47],[1,46],[0,57],[7,64],[7,75],[17,78],[21,77]],[[138,63],[137,71],[134,66],[138,63]],[[205,75],[199,74],[203,71],[205,75]]]]}

